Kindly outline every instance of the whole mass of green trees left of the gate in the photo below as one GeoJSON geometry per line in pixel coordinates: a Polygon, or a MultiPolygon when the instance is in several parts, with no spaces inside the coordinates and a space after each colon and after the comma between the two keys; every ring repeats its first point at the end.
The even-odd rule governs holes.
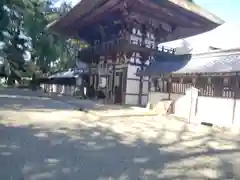
{"type": "Polygon", "coordinates": [[[54,3],[53,0],[0,0],[0,56],[10,81],[26,74],[47,73],[52,68],[69,68],[79,48],[86,46],[46,29],[71,8],[67,3],[56,8],[52,6],[54,3]],[[30,62],[26,62],[26,52],[30,54],[30,62]]]}

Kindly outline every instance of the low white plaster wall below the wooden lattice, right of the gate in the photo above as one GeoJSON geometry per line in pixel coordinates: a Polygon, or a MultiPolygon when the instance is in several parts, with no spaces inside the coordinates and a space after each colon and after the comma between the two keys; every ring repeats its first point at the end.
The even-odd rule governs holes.
{"type": "MultiPolygon", "coordinates": [[[[150,92],[148,102],[157,104],[167,98],[167,93],[150,92]]],[[[198,96],[198,100],[195,102],[194,99],[191,101],[191,98],[187,95],[178,94],[171,94],[171,99],[175,100],[174,114],[178,117],[189,119],[190,115],[191,122],[208,122],[218,126],[232,125],[233,99],[198,96]],[[195,111],[196,103],[197,112],[195,111]]],[[[234,124],[240,125],[240,100],[236,101],[234,124]]]]}

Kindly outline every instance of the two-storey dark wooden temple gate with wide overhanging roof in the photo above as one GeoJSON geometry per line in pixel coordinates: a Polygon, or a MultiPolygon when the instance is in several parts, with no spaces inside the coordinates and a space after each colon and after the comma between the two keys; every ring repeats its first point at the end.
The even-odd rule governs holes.
{"type": "Polygon", "coordinates": [[[196,11],[196,7],[186,1],[82,0],[50,29],[89,44],[79,58],[95,66],[92,82],[107,99],[146,105],[148,78],[137,77],[136,72],[148,66],[155,55],[174,53],[159,49],[158,44],[223,23],[203,9],[196,11]],[[189,4],[195,8],[186,8],[189,4]],[[179,29],[184,30],[179,34],[179,29]]]}

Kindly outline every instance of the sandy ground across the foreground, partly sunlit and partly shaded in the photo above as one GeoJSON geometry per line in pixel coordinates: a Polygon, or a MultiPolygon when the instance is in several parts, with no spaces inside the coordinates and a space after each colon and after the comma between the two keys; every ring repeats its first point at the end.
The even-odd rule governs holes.
{"type": "Polygon", "coordinates": [[[0,111],[0,179],[240,179],[238,134],[157,116],[99,120],[21,97],[6,104],[37,101],[55,111],[0,111]]]}

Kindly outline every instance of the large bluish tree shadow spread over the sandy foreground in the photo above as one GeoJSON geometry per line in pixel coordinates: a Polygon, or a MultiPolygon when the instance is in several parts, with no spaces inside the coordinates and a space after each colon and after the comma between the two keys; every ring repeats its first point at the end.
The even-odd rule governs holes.
{"type": "Polygon", "coordinates": [[[148,141],[99,125],[2,124],[0,179],[240,179],[233,163],[240,155],[237,141],[232,142],[235,148],[218,149],[209,143],[228,140],[219,139],[216,132],[185,138],[188,133],[186,128],[170,132],[163,127],[155,140],[148,141]],[[177,138],[168,143],[165,138],[170,135],[177,138]],[[186,145],[193,141],[201,142],[186,145]]]}

